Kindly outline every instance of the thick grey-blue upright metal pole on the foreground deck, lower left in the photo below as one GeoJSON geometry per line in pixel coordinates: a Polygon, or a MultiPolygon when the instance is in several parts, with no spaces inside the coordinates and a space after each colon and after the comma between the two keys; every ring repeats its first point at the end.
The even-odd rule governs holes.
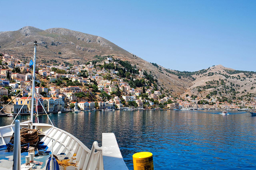
{"type": "Polygon", "coordinates": [[[13,147],[13,169],[21,169],[21,158],[20,158],[20,121],[15,121],[14,127],[14,147],[13,147]]]}

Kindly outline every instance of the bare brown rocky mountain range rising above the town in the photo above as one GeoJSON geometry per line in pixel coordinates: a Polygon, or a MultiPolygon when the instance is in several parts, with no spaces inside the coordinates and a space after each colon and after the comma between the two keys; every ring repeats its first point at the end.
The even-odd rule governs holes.
{"type": "Polygon", "coordinates": [[[156,63],[149,63],[102,37],[64,28],[40,30],[27,26],[17,31],[0,32],[0,52],[3,53],[5,49],[9,54],[29,62],[33,55],[34,40],[38,42],[38,63],[55,59],[57,63],[81,64],[95,60],[96,55],[112,55],[114,58],[129,61],[137,68],[150,72],[158,80],[159,90],[162,89],[166,94],[174,96],[186,94],[206,96],[210,92],[214,92],[215,95],[217,89],[217,95],[232,98],[234,95],[230,91],[230,89],[233,90],[232,88],[239,92],[236,97],[243,96],[247,92],[251,93],[254,89],[251,89],[255,79],[254,72],[236,71],[221,65],[195,72],[170,70],[156,63]]]}

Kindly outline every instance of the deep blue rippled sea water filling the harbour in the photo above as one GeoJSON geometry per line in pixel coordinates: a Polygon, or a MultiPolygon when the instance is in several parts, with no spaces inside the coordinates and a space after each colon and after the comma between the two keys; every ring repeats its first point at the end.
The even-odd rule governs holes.
{"type": "MultiPolygon", "coordinates": [[[[255,169],[256,117],[221,110],[141,110],[51,115],[54,126],[81,140],[88,148],[101,145],[101,133],[116,135],[130,170],[136,152],[153,153],[154,169],[255,169]],[[90,113],[90,114],[89,114],[90,113]]],[[[27,120],[28,117],[19,117],[27,120]]],[[[0,126],[13,118],[0,118],[0,126]]],[[[39,122],[50,123],[45,115],[39,122]]]]}

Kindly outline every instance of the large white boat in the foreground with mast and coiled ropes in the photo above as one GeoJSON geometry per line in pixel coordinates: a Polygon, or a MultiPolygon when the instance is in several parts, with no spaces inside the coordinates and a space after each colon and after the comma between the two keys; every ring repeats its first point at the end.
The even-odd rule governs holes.
{"type": "MultiPolygon", "coordinates": [[[[36,48],[37,42],[34,41],[33,78],[32,81],[24,87],[24,89],[26,89],[26,87],[32,83],[32,89],[24,104],[28,100],[30,100],[31,103],[34,103],[34,100],[38,99],[38,102],[46,113],[43,104],[40,102],[38,95],[35,93],[36,48]]],[[[15,100],[17,96],[15,96],[8,104],[15,100]]],[[[4,106],[1,110],[3,110],[6,106],[4,106]]],[[[23,106],[21,107],[20,111],[22,110],[23,106]]],[[[34,169],[35,166],[39,165],[38,162],[40,162],[40,166],[37,167],[39,169],[111,170],[113,167],[118,167],[120,170],[128,170],[121,155],[114,133],[102,133],[102,146],[100,147],[98,142],[94,141],[91,149],[89,149],[69,132],[55,127],[47,114],[47,122],[49,122],[49,124],[39,123],[37,112],[37,116],[35,118],[37,120],[34,121],[33,111],[34,105],[31,105],[31,113],[28,121],[20,122],[19,120],[16,120],[19,114],[18,113],[11,125],[0,127],[0,160],[4,160],[0,162],[0,167],[15,170],[30,170],[32,167],[34,169]],[[20,130],[20,128],[23,130],[20,130]],[[21,133],[24,134],[24,131],[26,132],[25,135],[29,138],[25,140],[24,145],[21,145],[20,136],[21,133]],[[28,135],[31,134],[31,132],[34,134],[33,136],[28,135]],[[10,140],[10,138],[13,140],[10,140]],[[21,146],[23,148],[24,146],[26,148],[28,148],[28,146],[33,146],[35,153],[30,153],[30,157],[28,157],[28,150],[30,151],[30,149],[21,150],[21,146]],[[51,155],[50,157],[49,154],[51,155]],[[35,158],[36,163],[33,161],[34,156],[37,156],[35,158]],[[27,160],[25,161],[25,157],[29,164],[27,166],[25,164],[21,165],[21,162],[27,162],[27,160]],[[58,164],[56,157],[64,162],[65,167],[58,164]]],[[[74,127],[71,125],[70,128],[74,127]]],[[[31,148],[31,152],[33,152],[33,148],[31,148]]]]}

